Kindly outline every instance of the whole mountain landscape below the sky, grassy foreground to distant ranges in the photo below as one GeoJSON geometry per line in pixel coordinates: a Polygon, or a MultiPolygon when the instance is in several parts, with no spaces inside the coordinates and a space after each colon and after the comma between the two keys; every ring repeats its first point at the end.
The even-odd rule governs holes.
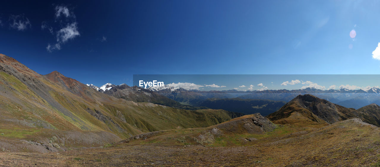
{"type": "Polygon", "coordinates": [[[310,90],[97,87],[0,55],[0,165],[379,165],[380,106],[310,90]]]}

